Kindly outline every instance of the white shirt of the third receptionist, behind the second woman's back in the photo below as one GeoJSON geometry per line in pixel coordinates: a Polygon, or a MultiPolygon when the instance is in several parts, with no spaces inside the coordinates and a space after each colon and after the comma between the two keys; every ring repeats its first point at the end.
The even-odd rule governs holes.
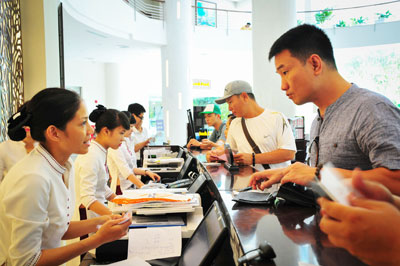
{"type": "MultiPolygon", "coordinates": [[[[127,178],[134,174],[133,169],[136,168],[136,154],[130,146],[128,138],[117,149],[110,149],[107,155],[107,164],[110,169],[110,175],[113,178],[118,177],[122,190],[126,190],[132,186],[132,182],[127,178]]],[[[114,190],[113,186],[112,190],[114,190]]]]}

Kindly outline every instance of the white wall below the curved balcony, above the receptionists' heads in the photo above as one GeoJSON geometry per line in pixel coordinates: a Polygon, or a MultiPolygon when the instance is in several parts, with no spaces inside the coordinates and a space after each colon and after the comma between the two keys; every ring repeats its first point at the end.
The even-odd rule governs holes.
{"type": "Polygon", "coordinates": [[[143,51],[120,63],[87,60],[66,60],[67,86],[81,86],[82,98],[90,113],[95,100],[107,108],[127,110],[131,103],[140,103],[147,110],[144,120],[148,127],[149,97],[161,95],[159,50],[143,51]]]}

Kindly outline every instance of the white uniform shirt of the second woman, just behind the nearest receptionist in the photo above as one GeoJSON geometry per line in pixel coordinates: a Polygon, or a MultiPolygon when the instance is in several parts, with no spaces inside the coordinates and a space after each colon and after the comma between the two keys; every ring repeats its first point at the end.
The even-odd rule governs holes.
{"type": "MultiPolygon", "coordinates": [[[[107,169],[107,150],[98,142],[92,141],[89,151],[80,154],[75,160],[76,202],[86,209],[96,200],[104,204],[113,194],[107,185],[109,179],[107,169]]],[[[88,218],[96,217],[88,211],[88,218]]]]}

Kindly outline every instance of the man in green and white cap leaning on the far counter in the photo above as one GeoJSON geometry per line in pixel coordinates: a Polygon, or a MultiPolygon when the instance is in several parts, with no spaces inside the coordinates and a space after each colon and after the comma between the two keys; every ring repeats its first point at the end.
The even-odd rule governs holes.
{"type": "Polygon", "coordinates": [[[204,114],[207,125],[214,127],[214,131],[208,139],[203,139],[201,142],[191,139],[186,146],[188,148],[195,146],[207,150],[223,144],[225,142],[224,131],[226,124],[221,120],[221,109],[219,106],[217,104],[208,104],[200,114],[204,114]],[[222,142],[218,143],[219,140],[222,140],[222,142]]]}

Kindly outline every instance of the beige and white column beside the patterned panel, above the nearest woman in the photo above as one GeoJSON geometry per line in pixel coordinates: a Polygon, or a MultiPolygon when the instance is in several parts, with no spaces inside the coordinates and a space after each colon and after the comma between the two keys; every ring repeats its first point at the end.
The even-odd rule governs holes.
{"type": "Polygon", "coordinates": [[[21,0],[24,99],[46,87],[60,86],[59,0],[21,0]]]}

